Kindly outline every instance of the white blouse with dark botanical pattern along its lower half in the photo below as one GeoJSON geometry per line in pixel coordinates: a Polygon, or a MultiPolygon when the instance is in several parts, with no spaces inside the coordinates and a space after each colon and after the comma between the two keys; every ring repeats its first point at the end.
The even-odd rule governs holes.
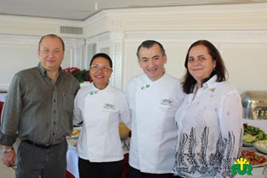
{"type": "Polygon", "coordinates": [[[216,79],[215,75],[204,83],[194,100],[194,92],[186,95],[176,113],[178,140],[173,170],[182,177],[232,177],[230,167],[241,153],[240,95],[231,84],[216,79]]]}

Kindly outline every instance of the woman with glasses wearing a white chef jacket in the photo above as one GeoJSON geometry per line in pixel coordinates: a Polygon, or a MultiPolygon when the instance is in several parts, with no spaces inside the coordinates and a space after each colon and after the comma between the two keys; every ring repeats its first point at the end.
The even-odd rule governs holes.
{"type": "Polygon", "coordinates": [[[112,87],[111,58],[95,54],[90,63],[93,80],[79,90],[75,98],[74,124],[83,121],[77,144],[81,178],[120,178],[123,171],[123,150],[119,137],[119,122],[130,123],[130,113],[124,93],[112,87]]]}

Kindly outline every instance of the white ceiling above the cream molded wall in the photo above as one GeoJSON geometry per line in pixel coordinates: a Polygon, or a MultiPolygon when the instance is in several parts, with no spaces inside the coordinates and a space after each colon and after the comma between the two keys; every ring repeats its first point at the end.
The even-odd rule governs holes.
{"type": "Polygon", "coordinates": [[[83,21],[109,9],[265,2],[267,0],[0,0],[0,14],[83,21]]]}

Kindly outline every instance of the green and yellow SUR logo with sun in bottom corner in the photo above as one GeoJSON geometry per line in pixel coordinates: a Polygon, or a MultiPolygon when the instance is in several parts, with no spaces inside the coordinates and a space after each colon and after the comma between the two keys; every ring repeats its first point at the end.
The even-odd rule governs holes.
{"type": "Polygon", "coordinates": [[[232,175],[236,175],[237,173],[240,175],[252,175],[251,170],[253,167],[249,164],[249,162],[244,158],[237,159],[234,164],[231,166],[232,175]]]}

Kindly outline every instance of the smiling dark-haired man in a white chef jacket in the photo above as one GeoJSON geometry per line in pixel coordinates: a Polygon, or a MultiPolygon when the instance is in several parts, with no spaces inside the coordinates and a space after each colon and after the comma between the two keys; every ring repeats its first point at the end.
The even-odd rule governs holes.
{"type": "Polygon", "coordinates": [[[144,73],[133,77],[125,91],[132,113],[128,178],[173,177],[174,116],[184,93],[180,81],[164,69],[167,55],[159,42],[142,42],[137,56],[144,73]]]}

